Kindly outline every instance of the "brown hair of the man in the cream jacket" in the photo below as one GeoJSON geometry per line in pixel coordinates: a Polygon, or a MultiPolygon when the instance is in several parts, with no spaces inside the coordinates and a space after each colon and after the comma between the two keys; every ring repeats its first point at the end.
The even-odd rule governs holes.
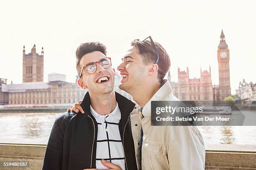
{"type": "MultiPolygon", "coordinates": [[[[157,63],[159,67],[157,78],[159,79],[159,82],[162,82],[164,76],[171,66],[171,60],[164,47],[157,42],[154,43],[159,54],[159,61],[157,63]]],[[[142,56],[144,65],[148,65],[156,61],[157,55],[149,40],[141,42],[140,40],[136,39],[131,42],[131,45],[138,49],[138,53],[142,56]]]]}

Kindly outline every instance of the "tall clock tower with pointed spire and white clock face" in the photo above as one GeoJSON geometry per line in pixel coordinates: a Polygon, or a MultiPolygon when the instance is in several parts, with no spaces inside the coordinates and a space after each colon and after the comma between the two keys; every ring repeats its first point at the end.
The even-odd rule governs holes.
{"type": "Polygon", "coordinates": [[[219,65],[219,92],[220,100],[231,96],[230,73],[229,73],[229,50],[225,41],[225,35],[221,30],[220,44],[218,46],[218,65],[219,65]]]}

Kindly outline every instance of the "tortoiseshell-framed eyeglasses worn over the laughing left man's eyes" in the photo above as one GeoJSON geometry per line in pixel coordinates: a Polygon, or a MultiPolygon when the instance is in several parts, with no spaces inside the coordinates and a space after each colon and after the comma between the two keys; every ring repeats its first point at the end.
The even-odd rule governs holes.
{"type": "Polygon", "coordinates": [[[97,70],[96,63],[99,63],[99,65],[102,66],[103,68],[109,68],[111,66],[111,58],[105,57],[105,58],[100,59],[99,61],[89,62],[87,65],[84,65],[84,67],[81,70],[79,78],[82,77],[83,70],[86,70],[90,74],[95,73],[97,70]]]}

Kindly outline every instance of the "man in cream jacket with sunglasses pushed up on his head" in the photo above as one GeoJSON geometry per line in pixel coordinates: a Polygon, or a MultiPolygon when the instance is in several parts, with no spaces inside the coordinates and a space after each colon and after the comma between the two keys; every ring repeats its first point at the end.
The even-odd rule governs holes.
{"type": "MultiPolygon", "coordinates": [[[[204,170],[205,147],[195,126],[151,126],[151,101],[178,100],[172,87],[164,80],[170,67],[165,49],[150,40],[133,40],[122,57],[118,71],[122,77],[119,88],[131,94],[141,109],[140,119],[131,117],[135,152],[141,151],[142,170],[204,170]],[[141,130],[135,128],[141,125],[141,130]]],[[[72,110],[82,108],[75,104],[72,110]]]]}

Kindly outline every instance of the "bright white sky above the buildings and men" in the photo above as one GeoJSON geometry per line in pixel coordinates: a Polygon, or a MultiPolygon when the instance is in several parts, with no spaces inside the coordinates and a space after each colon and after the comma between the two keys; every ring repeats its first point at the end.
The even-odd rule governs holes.
{"type": "Polygon", "coordinates": [[[25,0],[0,2],[0,77],[22,82],[22,50],[44,47],[44,81],[50,72],[74,82],[75,50],[82,42],[106,45],[116,68],[133,39],[148,35],[177,67],[189,67],[190,78],[212,69],[218,84],[217,48],[221,29],[230,50],[231,92],[239,81],[256,82],[256,2],[254,0],[25,0]]]}

